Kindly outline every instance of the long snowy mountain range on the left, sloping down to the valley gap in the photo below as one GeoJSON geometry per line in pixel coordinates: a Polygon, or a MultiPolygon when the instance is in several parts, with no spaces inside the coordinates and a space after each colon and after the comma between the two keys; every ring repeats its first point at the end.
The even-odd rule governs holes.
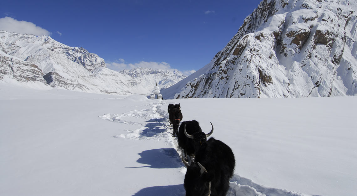
{"type": "MultiPolygon", "coordinates": [[[[143,77],[136,78],[135,75],[108,69],[102,58],[82,47],[70,47],[49,36],[7,31],[0,31],[0,63],[0,80],[40,89],[53,87],[93,93],[147,95],[156,82],[168,87],[184,77],[178,72],[158,70],[157,80],[143,82],[143,77]],[[172,80],[167,77],[172,77],[172,80]]],[[[142,75],[145,75],[144,71],[142,75]]],[[[155,72],[149,71],[147,75],[155,72]]]]}

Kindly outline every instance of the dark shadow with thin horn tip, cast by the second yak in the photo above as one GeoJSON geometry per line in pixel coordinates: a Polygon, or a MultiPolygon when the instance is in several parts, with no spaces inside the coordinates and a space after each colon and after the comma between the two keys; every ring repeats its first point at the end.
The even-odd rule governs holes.
{"type": "Polygon", "coordinates": [[[174,148],[145,150],[138,155],[141,157],[136,162],[147,164],[147,166],[126,168],[150,167],[154,169],[168,169],[183,166],[180,156],[174,148]]]}

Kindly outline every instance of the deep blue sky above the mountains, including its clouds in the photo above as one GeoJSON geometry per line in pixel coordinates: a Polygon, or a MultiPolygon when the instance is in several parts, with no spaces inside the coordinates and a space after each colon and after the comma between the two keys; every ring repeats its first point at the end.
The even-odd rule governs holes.
{"type": "Polygon", "coordinates": [[[187,74],[209,63],[260,1],[2,0],[0,30],[24,29],[27,22],[29,31],[83,47],[114,70],[147,66],[187,74]]]}

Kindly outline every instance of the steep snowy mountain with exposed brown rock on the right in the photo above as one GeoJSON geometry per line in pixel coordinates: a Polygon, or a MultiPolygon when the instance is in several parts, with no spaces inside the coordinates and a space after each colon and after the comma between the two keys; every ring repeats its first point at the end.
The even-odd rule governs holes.
{"type": "Polygon", "coordinates": [[[263,0],[212,61],[169,98],[357,94],[356,0],[263,0]]]}

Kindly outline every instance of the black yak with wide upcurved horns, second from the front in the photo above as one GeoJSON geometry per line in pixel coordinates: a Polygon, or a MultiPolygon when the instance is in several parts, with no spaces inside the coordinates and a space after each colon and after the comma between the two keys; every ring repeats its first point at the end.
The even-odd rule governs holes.
{"type": "Polygon", "coordinates": [[[213,125],[211,132],[205,134],[202,132],[202,129],[196,120],[182,122],[177,134],[178,148],[183,151],[187,160],[191,162],[190,159],[195,155],[195,150],[198,150],[202,143],[206,142],[207,137],[212,135],[212,133],[213,125]]]}

